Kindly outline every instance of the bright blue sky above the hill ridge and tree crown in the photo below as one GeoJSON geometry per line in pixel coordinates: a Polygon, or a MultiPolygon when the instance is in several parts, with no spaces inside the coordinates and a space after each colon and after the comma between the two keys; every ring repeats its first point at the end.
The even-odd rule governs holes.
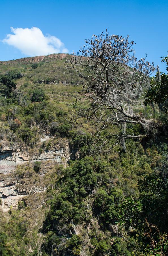
{"type": "Polygon", "coordinates": [[[0,0],[0,7],[1,61],[43,55],[47,51],[76,52],[86,38],[107,28],[110,34],[130,35],[130,40],[136,43],[136,56],[141,58],[148,53],[147,60],[165,71],[160,57],[167,55],[168,51],[168,0],[0,0]],[[11,27],[38,29],[13,29],[11,32],[11,27]],[[39,35],[40,42],[44,41],[47,47],[52,44],[53,48],[44,51],[46,46],[42,44],[42,54],[39,54],[41,48],[34,45],[31,48],[34,40],[27,32],[31,32],[31,36],[39,35]],[[15,37],[7,38],[7,34],[17,35],[18,41],[14,41],[15,37]],[[24,37],[21,45],[20,36],[24,37]],[[8,40],[2,42],[5,38],[8,40]]]}

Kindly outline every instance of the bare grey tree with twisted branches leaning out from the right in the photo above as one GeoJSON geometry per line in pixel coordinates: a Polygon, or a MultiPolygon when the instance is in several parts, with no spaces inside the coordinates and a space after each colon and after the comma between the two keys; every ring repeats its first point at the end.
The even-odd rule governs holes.
{"type": "Polygon", "coordinates": [[[147,133],[153,125],[153,120],[133,112],[154,71],[153,63],[151,65],[146,58],[137,60],[133,45],[129,36],[109,35],[106,30],[85,40],[85,45],[77,54],[73,52],[66,64],[70,73],[81,78],[80,93],[86,94],[90,102],[89,108],[71,112],[73,119],[83,117],[101,130],[113,124],[122,125],[122,134],[111,136],[116,136],[123,148],[125,138],[141,137],[127,134],[124,124],[140,124],[147,133]]]}

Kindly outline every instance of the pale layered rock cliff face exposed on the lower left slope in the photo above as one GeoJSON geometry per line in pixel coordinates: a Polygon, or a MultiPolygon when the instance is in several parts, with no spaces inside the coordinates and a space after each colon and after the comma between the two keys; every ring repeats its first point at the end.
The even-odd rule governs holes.
{"type": "MultiPolygon", "coordinates": [[[[42,139],[42,141],[44,140],[42,139]]],[[[2,147],[0,152],[0,208],[3,211],[8,211],[11,206],[17,208],[18,201],[22,197],[46,191],[46,186],[41,178],[44,179],[43,176],[48,172],[49,167],[38,174],[40,182],[33,185],[28,182],[25,185],[25,182],[20,183],[20,179],[14,173],[16,166],[23,166],[23,164],[36,161],[43,163],[49,161],[53,162],[53,164],[63,164],[65,167],[68,160],[70,160],[70,149],[66,140],[63,141],[62,145],[57,145],[57,150],[51,149],[41,154],[36,152],[33,156],[30,156],[27,151],[20,148],[14,149],[12,146],[2,147]]]]}

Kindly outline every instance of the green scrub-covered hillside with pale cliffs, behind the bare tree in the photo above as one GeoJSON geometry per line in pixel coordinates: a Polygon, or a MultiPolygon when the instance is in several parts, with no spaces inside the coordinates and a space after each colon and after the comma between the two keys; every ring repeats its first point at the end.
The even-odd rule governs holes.
{"type": "Polygon", "coordinates": [[[0,255],[167,255],[167,117],[139,98],[158,130],[128,123],[142,137],[98,153],[92,122],[71,119],[90,103],[70,57],[0,61],[0,255]]]}

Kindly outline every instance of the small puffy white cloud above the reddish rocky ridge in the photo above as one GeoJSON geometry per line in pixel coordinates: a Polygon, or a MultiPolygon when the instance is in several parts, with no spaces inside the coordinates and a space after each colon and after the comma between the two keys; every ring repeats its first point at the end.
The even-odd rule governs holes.
{"type": "Polygon", "coordinates": [[[48,55],[51,53],[68,53],[63,42],[56,36],[44,36],[40,28],[13,28],[13,34],[3,39],[4,43],[14,46],[28,56],[48,55]]]}

